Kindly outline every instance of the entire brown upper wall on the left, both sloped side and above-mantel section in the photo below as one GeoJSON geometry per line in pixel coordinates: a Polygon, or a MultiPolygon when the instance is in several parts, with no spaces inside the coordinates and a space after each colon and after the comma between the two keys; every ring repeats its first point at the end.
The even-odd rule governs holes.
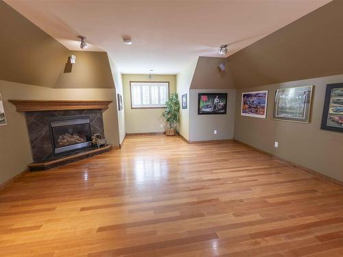
{"type": "Polygon", "coordinates": [[[0,79],[49,88],[115,87],[107,53],[69,51],[1,0],[0,17],[0,79]],[[66,67],[71,54],[76,64],[66,67]]]}

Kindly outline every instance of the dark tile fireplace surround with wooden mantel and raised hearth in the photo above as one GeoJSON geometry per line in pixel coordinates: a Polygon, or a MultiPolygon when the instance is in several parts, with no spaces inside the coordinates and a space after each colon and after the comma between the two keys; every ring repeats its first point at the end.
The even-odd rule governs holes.
{"type": "MultiPolygon", "coordinates": [[[[104,121],[102,114],[108,109],[108,105],[112,101],[22,99],[10,99],[8,101],[16,106],[18,112],[24,112],[32,149],[32,159],[34,160],[34,162],[27,166],[32,171],[51,169],[62,164],[88,158],[96,154],[102,154],[103,152],[110,150],[110,145],[106,145],[99,149],[89,148],[91,145],[82,143],[82,140],[90,142],[91,135],[94,134],[101,134],[104,136],[104,121]],[[80,119],[81,117],[84,119],[80,119]],[[62,138],[58,141],[58,144],[61,144],[62,148],[69,147],[68,140],[71,140],[69,142],[72,142],[72,144],[78,143],[80,147],[70,147],[75,151],[70,151],[70,149],[68,149],[68,151],[60,154],[60,149],[62,148],[58,148],[58,151],[55,148],[56,140],[54,140],[54,138],[56,139],[57,137],[53,123],[58,123],[58,126],[61,127],[64,125],[73,125],[71,124],[72,121],[77,122],[78,124],[81,124],[82,122],[87,124],[88,133],[80,134],[80,136],[86,136],[85,138],[80,138],[78,134],[68,134],[72,133],[73,130],[69,131],[67,129],[66,134],[61,134],[62,138]],[[63,145],[64,143],[67,143],[65,147],[63,145]],[[82,149],[81,147],[87,148],[82,149]]],[[[63,131],[63,129],[61,131],[63,131]]],[[[82,130],[80,130],[80,132],[82,132],[82,130]]],[[[86,130],[84,130],[84,132],[86,132],[86,130]]],[[[61,146],[58,145],[58,147],[61,146]]]]}

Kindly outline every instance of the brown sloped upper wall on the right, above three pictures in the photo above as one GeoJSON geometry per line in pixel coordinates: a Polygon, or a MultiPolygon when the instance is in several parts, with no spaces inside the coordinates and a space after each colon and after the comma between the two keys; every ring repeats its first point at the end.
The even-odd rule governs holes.
{"type": "Polygon", "coordinates": [[[235,88],[342,74],[342,10],[332,1],[229,56],[235,88]]]}

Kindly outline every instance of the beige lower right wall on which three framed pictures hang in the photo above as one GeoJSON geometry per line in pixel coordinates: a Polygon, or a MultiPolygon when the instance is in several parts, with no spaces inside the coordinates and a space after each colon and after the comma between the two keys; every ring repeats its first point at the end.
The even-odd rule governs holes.
{"type": "Polygon", "coordinates": [[[235,138],[285,160],[343,181],[343,134],[320,130],[326,86],[342,82],[343,75],[335,75],[237,90],[235,138]],[[272,119],[276,88],[309,85],[315,85],[311,123],[274,121],[272,119]],[[253,90],[269,90],[267,119],[240,115],[241,93],[253,90]],[[279,142],[278,148],[274,147],[275,141],[279,142]]]}

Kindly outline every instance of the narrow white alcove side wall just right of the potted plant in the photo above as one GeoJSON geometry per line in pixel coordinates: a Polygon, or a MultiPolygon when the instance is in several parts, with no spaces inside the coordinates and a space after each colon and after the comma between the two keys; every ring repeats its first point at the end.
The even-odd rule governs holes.
{"type": "Polygon", "coordinates": [[[189,87],[191,86],[197,63],[198,58],[176,75],[176,90],[180,99],[180,123],[178,124],[178,132],[187,140],[189,140],[189,87]],[[182,109],[182,95],[185,94],[187,94],[187,109],[182,109]]]}

